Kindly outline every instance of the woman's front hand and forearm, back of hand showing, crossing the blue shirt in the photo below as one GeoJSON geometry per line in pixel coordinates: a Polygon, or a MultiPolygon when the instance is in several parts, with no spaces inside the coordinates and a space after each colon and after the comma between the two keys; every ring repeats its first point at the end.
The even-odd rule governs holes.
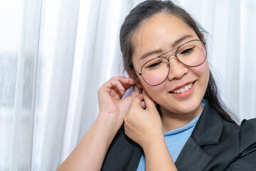
{"type": "Polygon", "coordinates": [[[160,115],[145,90],[134,98],[124,118],[124,130],[143,148],[146,170],[177,170],[166,147],[160,115]]]}

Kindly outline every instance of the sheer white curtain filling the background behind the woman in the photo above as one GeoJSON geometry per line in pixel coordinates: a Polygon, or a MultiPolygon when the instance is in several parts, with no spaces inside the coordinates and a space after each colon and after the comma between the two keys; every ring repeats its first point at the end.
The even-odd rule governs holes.
{"type": "MultiPolygon", "coordinates": [[[[140,1],[0,1],[0,170],[55,170],[122,75],[119,28],[140,1]]],[[[223,100],[256,117],[256,1],[176,0],[209,32],[223,100]]]]}

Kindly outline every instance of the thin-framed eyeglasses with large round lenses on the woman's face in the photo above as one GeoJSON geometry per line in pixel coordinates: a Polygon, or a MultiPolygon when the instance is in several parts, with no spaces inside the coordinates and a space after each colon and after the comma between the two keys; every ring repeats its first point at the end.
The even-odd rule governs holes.
{"type": "Polygon", "coordinates": [[[152,58],[144,63],[141,68],[141,73],[136,71],[135,68],[134,71],[136,71],[139,76],[142,76],[143,80],[147,84],[157,86],[163,83],[169,75],[169,58],[171,58],[171,56],[175,56],[180,63],[189,67],[200,66],[204,61],[206,61],[207,52],[205,44],[206,43],[200,40],[188,41],[183,43],[181,46],[172,49],[171,51],[176,50],[176,52],[167,58],[164,57],[164,55],[171,51],[161,54],[161,56],[152,58]]]}

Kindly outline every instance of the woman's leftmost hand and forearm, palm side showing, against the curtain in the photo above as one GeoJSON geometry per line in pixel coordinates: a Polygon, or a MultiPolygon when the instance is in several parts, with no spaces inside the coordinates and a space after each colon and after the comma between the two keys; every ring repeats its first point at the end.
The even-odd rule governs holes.
{"type": "Polygon", "coordinates": [[[122,96],[135,81],[124,77],[114,77],[98,90],[100,113],[75,150],[58,170],[100,170],[114,135],[124,121],[132,100],[139,95],[134,88],[132,95],[122,96]]]}

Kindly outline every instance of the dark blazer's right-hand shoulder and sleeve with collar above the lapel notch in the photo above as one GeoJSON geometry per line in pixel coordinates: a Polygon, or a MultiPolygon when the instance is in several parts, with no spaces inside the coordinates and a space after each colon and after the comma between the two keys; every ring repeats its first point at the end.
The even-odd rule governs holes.
{"type": "Polygon", "coordinates": [[[213,157],[206,170],[251,170],[256,167],[256,119],[240,125],[205,106],[192,137],[213,157]]]}

